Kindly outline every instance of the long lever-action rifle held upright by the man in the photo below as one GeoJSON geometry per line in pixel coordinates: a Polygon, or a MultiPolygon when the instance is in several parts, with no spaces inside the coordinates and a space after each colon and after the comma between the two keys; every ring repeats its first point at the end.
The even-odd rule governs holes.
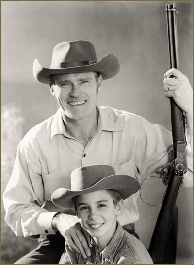
{"type": "MultiPolygon", "coordinates": [[[[166,5],[170,68],[179,69],[177,13],[175,4],[166,5]]],[[[171,77],[173,78],[173,76],[171,77]]],[[[164,165],[162,168],[170,167],[171,174],[148,250],[154,264],[175,264],[178,232],[176,199],[184,173],[187,172],[185,116],[173,98],[170,98],[170,106],[173,162],[164,165]]]]}

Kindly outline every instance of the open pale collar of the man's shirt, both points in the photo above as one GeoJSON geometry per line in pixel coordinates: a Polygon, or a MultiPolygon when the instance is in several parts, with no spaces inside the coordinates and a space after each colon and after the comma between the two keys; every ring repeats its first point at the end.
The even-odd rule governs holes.
{"type": "MultiPolygon", "coordinates": [[[[95,136],[97,136],[102,130],[112,132],[123,130],[123,127],[121,125],[114,123],[114,121],[108,116],[103,107],[97,106],[97,111],[98,125],[95,136]]],[[[52,139],[52,137],[56,134],[64,134],[66,137],[70,138],[70,136],[65,132],[65,125],[60,108],[57,110],[52,120],[50,129],[50,139],[52,139]]]]}

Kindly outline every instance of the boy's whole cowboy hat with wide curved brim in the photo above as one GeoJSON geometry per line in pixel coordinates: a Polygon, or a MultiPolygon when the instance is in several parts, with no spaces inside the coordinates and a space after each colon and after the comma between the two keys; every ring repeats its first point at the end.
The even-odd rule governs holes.
{"type": "Polygon", "coordinates": [[[72,198],[99,190],[112,189],[127,199],[140,188],[139,182],[124,174],[115,174],[110,165],[90,165],[77,168],[71,173],[71,190],[59,188],[52,193],[52,202],[62,208],[73,208],[72,198]]]}

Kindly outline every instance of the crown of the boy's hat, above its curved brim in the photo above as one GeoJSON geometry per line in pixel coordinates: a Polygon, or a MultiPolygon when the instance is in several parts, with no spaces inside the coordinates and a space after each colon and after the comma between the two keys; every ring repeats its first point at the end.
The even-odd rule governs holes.
{"type": "Polygon", "coordinates": [[[114,174],[114,168],[104,164],[77,168],[71,173],[71,190],[81,191],[90,188],[104,177],[114,174]]]}

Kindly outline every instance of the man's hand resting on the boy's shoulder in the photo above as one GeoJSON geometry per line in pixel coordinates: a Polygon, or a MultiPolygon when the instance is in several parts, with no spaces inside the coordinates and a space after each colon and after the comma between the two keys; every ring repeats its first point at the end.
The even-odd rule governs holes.
{"type": "Polygon", "coordinates": [[[58,213],[52,219],[52,227],[63,235],[71,250],[81,253],[84,259],[91,256],[90,235],[81,229],[77,216],[58,213]]]}

